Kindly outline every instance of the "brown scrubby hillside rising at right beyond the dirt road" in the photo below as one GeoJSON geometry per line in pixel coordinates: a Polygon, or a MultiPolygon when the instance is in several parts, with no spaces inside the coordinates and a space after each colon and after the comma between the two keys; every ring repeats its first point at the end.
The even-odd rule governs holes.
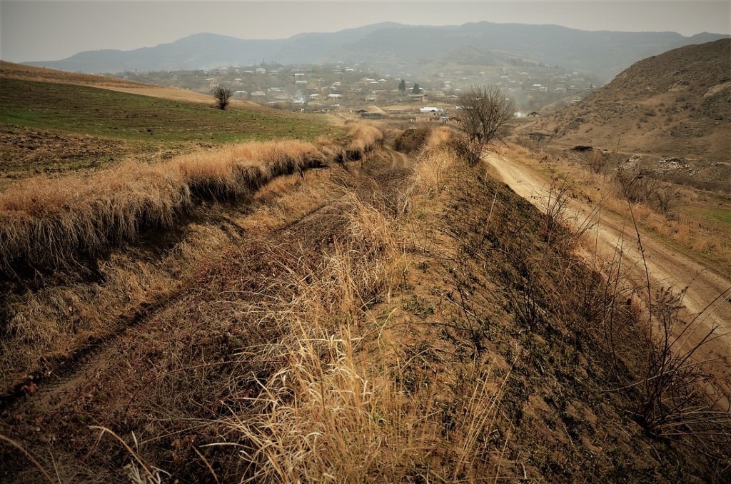
{"type": "Polygon", "coordinates": [[[651,56],[591,96],[526,130],[565,143],[728,160],[731,39],[651,56]]]}

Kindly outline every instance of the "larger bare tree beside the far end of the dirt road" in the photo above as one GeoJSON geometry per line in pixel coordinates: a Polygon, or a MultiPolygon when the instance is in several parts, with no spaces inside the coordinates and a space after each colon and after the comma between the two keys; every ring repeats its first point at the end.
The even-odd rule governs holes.
{"type": "Polygon", "coordinates": [[[504,134],[515,113],[512,100],[497,86],[472,86],[459,96],[458,129],[465,136],[467,162],[476,165],[482,148],[504,134]]]}

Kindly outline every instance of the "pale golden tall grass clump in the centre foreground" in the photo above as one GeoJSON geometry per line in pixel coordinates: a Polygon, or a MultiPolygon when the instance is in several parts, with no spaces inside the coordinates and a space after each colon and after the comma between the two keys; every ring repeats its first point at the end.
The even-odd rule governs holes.
{"type": "MultiPolygon", "coordinates": [[[[352,328],[375,294],[392,289],[403,257],[379,211],[354,194],[346,204],[347,240],[338,241],[309,277],[303,268],[287,268],[291,279],[279,282],[292,297],[262,308],[267,325],[287,328],[289,335],[263,349],[262,358],[288,364],[265,383],[255,402],[260,413],[230,422],[249,442],[251,480],[366,477],[384,451],[385,441],[374,438],[385,437],[383,417],[408,417],[403,398],[357,351],[360,337],[352,328]]],[[[387,428],[398,434],[397,427],[387,428]]]]}

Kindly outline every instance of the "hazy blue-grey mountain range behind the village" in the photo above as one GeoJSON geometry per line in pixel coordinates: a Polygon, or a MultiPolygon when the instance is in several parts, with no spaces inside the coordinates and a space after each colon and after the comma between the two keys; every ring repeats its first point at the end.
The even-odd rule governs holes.
{"type": "Polygon", "coordinates": [[[444,67],[495,63],[547,64],[594,75],[604,83],[632,62],[683,45],[720,39],[674,32],[581,31],[560,26],[466,23],[404,26],[378,23],[327,34],[252,40],[195,34],[135,50],[89,50],[60,61],[31,62],[72,72],[213,68],[225,65],[366,61],[388,72],[431,75],[444,67]]]}

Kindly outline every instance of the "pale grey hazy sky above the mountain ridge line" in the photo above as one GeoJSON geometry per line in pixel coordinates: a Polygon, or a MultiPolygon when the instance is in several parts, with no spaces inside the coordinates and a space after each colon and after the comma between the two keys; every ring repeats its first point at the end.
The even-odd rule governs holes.
{"type": "Polygon", "coordinates": [[[461,25],[482,20],[731,34],[731,0],[0,0],[0,58],[53,61],[83,50],[153,47],[200,32],[281,39],[385,21],[461,25]]]}

